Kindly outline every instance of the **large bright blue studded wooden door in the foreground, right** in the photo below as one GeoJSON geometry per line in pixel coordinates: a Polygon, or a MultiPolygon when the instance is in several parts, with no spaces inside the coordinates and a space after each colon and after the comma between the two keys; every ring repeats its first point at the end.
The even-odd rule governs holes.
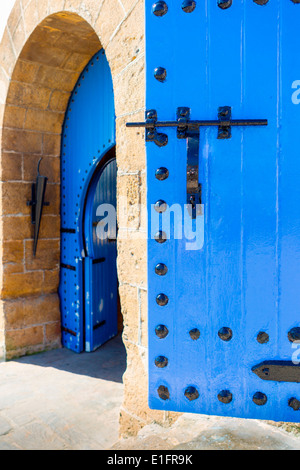
{"type": "Polygon", "coordinates": [[[145,4],[150,407],[300,421],[300,4],[145,4]]]}

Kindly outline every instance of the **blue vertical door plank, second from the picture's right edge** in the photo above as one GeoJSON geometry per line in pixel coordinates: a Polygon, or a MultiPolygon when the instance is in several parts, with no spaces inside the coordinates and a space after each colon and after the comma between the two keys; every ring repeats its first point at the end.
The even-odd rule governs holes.
{"type": "MultiPolygon", "coordinates": [[[[277,6],[262,9],[258,17],[256,5],[247,5],[245,10],[245,52],[243,64],[245,70],[245,86],[243,87],[243,103],[245,112],[255,113],[258,103],[259,111],[268,113],[268,127],[245,129],[244,139],[253,142],[246,145],[244,140],[242,157],[242,229],[243,229],[243,323],[247,332],[245,338],[246,384],[245,396],[250,407],[249,413],[258,417],[279,417],[282,409],[288,412],[288,399],[284,407],[279,406],[278,384],[262,382],[251,368],[268,358],[280,359],[277,352],[276,322],[277,310],[277,6]],[[261,54],[257,54],[251,41],[254,34],[263,34],[261,54]],[[266,60],[268,57],[268,60],[266,60]],[[255,70],[261,70],[264,79],[260,86],[254,86],[255,70]],[[250,86],[250,84],[252,84],[250,86]],[[274,99],[275,97],[275,99],[274,99]],[[265,111],[262,111],[262,109],[265,111]],[[250,133],[247,134],[247,130],[250,133]],[[258,131],[258,132],[256,132],[258,131]],[[265,133],[263,131],[266,131],[265,133]],[[251,139],[251,140],[250,140],[251,139]],[[253,153],[255,151],[255,158],[253,153]],[[254,186],[251,183],[254,182],[254,186]],[[249,221],[247,223],[247,221],[249,221]],[[247,226],[245,225],[247,223],[247,226]],[[270,336],[266,344],[259,344],[257,334],[265,331],[270,336]],[[268,397],[263,407],[252,402],[257,390],[268,397]]],[[[247,141],[248,141],[247,140],[247,141]]],[[[284,338],[287,341],[287,337],[284,338]]],[[[288,341],[287,341],[288,343],[288,341]]],[[[290,346],[289,346],[290,347],[290,346]]],[[[290,398],[290,397],[289,397],[290,398]]]]}

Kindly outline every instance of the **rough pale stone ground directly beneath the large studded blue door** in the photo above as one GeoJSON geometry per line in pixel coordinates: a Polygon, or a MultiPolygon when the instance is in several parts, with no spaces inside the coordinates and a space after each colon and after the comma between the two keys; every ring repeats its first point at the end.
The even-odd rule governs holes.
{"type": "Polygon", "coordinates": [[[300,438],[262,421],[185,414],[171,428],[146,426],[114,450],[300,450],[300,438]]]}

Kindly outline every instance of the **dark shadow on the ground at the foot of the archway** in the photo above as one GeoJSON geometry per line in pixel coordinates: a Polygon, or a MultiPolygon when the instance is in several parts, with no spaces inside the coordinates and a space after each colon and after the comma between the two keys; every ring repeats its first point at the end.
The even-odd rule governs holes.
{"type": "Polygon", "coordinates": [[[119,335],[92,353],[77,354],[62,348],[10,362],[52,367],[72,374],[122,383],[122,377],[126,370],[126,349],[122,337],[119,335]]]}

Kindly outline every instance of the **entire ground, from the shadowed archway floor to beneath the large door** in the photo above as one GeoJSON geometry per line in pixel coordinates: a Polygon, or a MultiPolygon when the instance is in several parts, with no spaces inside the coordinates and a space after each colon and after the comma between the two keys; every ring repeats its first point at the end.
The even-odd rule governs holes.
{"type": "Polygon", "coordinates": [[[118,441],[125,367],[120,337],[92,354],[60,349],[0,364],[0,450],[300,449],[300,437],[265,422],[188,414],[118,441]]]}

